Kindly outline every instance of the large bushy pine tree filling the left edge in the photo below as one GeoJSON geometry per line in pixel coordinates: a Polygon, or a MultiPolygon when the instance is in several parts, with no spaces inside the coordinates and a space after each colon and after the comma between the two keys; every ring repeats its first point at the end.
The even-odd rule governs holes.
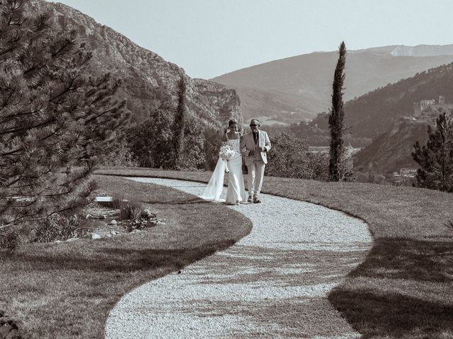
{"type": "Polygon", "coordinates": [[[76,32],[28,4],[0,2],[0,229],[81,206],[126,119],[120,83],[88,75],[76,32]]]}

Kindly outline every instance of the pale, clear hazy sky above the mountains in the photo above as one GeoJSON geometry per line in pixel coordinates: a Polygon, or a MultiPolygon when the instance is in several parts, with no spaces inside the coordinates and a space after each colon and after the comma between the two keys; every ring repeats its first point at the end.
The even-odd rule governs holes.
{"type": "Polygon", "coordinates": [[[194,78],[389,44],[453,44],[452,0],[61,0],[194,78]]]}

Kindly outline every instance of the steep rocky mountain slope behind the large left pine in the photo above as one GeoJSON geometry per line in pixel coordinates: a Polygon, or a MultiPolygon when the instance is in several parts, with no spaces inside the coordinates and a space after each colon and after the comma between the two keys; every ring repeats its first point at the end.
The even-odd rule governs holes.
{"type": "Polygon", "coordinates": [[[210,126],[224,126],[231,117],[242,121],[239,96],[224,85],[193,79],[176,64],[165,61],[158,54],[139,47],[112,28],[96,23],[93,18],[64,4],[31,0],[31,11],[51,11],[57,25],[75,29],[79,40],[86,42],[93,52],[91,71],[113,73],[125,84],[127,108],[134,121],[149,117],[156,107],[172,100],[176,102],[176,85],[184,74],[190,114],[210,126]]]}

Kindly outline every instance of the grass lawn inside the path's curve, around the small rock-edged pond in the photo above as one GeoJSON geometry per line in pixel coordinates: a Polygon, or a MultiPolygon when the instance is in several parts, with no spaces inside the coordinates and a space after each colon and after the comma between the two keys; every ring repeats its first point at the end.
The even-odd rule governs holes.
{"type": "Polygon", "coordinates": [[[95,176],[103,191],[142,201],[165,225],[100,240],[28,244],[0,253],[0,310],[25,338],[103,338],[108,312],[132,288],[175,272],[251,231],[251,222],[162,186],[95,176]]]}

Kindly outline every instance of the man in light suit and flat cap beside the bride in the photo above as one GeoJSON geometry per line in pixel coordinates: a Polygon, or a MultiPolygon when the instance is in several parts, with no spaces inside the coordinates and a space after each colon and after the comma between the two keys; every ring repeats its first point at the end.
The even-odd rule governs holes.
{"type": "Polygon", "coordinates": [[[251,119],[251,132],[244,134],[241,139],[241,150],[245,148],[246,165],[248,169],[248,202],[260,203],[259,194],[263,186],[264,167],[268,163],[270,145],[268,133],[260,131],[260,121],[251,119]]]}

